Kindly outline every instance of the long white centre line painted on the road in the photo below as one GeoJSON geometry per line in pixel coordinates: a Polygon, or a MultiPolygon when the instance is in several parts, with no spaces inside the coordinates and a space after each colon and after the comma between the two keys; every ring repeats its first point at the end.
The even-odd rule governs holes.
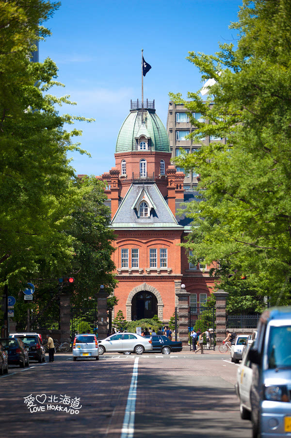
{"type": "Polygon", "coordinates": [[[134,434],[138,359],[139,359],[138,357],[135,358],[133,365],[128,401],[125,408],[125,414],[124,414],[124,420],[123,420],[120,438],[133,438],[133,434],[134,434]]]}

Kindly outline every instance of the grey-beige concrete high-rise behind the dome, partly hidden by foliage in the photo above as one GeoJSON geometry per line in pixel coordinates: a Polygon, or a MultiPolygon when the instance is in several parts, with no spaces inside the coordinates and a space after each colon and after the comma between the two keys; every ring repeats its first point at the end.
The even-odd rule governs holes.
{"type": "MultiPolygon", "coordinates": [[[[170,149],[172,153],[172,158],[177,157],[181,154],[180,148],[183,148],[186,153],[197,152],[203,144],[209,145],[210,142],[223,141],[225,143],[226,139],[223,137],[214,137],[207,135],[200,140],[199,143],[195,143],[194,140],[186,139],[185,137],[195,131],[195,126],[189,121],[187,116],[189,110],[185,108],[183,104],[177,104],[173,101],[169,102],[168,116],[167,116],[167,133],[170,140],[170,149]]],[[[205,121],[201,113],[193,113],[194,117],[198,121],[205,121]]],[[[193,171],[185,172],[183,168],[176,166],[177,172],[184,172],[184,190],[195,190],[198,183],[197,177],[199,174],[193,169],[193,171]]]]}

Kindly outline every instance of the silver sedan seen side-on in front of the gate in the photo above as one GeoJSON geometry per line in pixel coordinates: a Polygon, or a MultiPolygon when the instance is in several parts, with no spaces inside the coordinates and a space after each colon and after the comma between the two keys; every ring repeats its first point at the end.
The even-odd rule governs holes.
{"type": "Polygon", "coordinates": [[[98,341],[99,354],[107,353],[135,353],[143,354],[153,349],[151,339],[136,333],[117,333],[98,341]]]}

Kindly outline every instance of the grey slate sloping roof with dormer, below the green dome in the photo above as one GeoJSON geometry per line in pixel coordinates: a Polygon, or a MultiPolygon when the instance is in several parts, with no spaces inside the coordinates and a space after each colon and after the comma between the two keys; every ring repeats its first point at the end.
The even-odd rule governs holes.
{"type": "Polygon", "coordinates": [[[183,230],[155,183],[133,183],[119,205],[111,221],[111,226],[114,229],[175,228],[183,230]],[[134,208],[143,193],[152,203],[151,214],[148,218],[139,218],[138,212],[134,208]]]}

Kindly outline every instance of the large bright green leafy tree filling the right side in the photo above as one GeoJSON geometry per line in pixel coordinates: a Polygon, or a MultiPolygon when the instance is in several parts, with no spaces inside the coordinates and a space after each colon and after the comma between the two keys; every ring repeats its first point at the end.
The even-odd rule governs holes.
{"type": "Polygon", "coordinates": [[[220,260],[215,275],[253,277],[259,296],[280,304],[290,303],[291,291],[290,20],[290,0],[243,0],[230,25],[238,31],[236,47],[189,52],[202,79],[216,80],[206,103],[198,92],[188,94],[191,101],[171,95],[189,109],[195,142],[227,138],[177,160],[201,178],[199,200],[187,207],[193,233],[185,246],[193,262],[220,260]]]}

